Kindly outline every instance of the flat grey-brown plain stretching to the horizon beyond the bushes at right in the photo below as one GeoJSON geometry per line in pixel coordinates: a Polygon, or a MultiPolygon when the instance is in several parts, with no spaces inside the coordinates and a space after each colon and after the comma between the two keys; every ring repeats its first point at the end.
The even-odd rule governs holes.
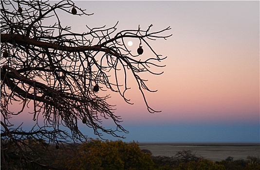
{"type": "Polygon", "coordinates": [[[153,156],[174,156],[177,152],[190,150],[197,156],[212,161],[222,161],[228,156],[234,160],[247,156],[260,156],[260,143],[175,143],[175,142],[139,142],[141,149],[149,150],[153,156]]]}

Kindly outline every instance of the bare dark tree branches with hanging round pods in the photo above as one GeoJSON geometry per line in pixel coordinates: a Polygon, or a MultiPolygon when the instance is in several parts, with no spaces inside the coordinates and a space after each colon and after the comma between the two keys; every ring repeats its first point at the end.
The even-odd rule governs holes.
{"type": "MultiPolygon", "coordinates": [[[[152,69],[164,67],[158,62],[166,57],[157,54],[149,41],[171,36],[162,35],[169,27],[158,32],[149,31],[152,25],[146,30],[138,26],[136,30],[116,32],[116,23],[111,28],[86,25],[86,33],[74,33],[71,27],[62,26],[59,11],[75,17],[93,14],[71,0],[53,5],[48,1],[22,0],[0,3],[2,141],[12,141],[19,151],[23,151],[22,140],[28,138],[56,144],[83,141],[87,136],[78,129],[80,121],[92,128],[95,135],[123,137],[117,132],[128,131],[120,125],[121,118],[113,114],[114,107],[107,103],[110,96],[101,96],[100,92],[119,93],[130,103],[125,96],[129,76],[134,77],[149,112],[157,112],[146,100],[144,92],[153,91],[141,73],[161,74],[152,69]],[[54,23],[48,25],[45,20],[54,23]],[[130,51],[126,38],[138,39],[137,51],[130,51]],[[143,57],[143,46],[153,56],[143,57]],[[19,111],[12,109],[14,104],[19,104],[19,111]],[[22,126],[13,128],[10,119],[23,114],[29,106],[33,107],[35,126],[30,131],[22,130],[22,126]],[[111,119],[116,128],[103,127],[105,119],[111,119]]],[[[25,154],[20,156],[32,161],[25,154]]]]}

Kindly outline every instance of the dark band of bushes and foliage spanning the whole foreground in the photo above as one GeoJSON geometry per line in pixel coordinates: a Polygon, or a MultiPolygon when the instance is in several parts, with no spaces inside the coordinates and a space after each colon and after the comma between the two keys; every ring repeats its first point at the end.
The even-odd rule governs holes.
{"type": "MultiPolygon", "coordinates": [[[[2,141],[1,145],[12,146],[6,145],[6,142],[2,141]]],[[[43,159],[36,164],[21,161],[19,156],[13,155],[12,162],[9,161],[9,170],[19,169],[20,164],[23,164],[24,170],[46,169],[42,164],[50,165],[49,170],[260,170],[260,158],[256,156],[248,156],[246,160],[233,160],[229,156],[223,161],[211,161],[189,150],[179,151],[172,157],[153,156],[149,150],[141,150],[134,141],[127,143],[121,140],[88,139],[83,144],[66,144],[58,148],[46,143],[45,148],[42,148],[42,140],[23,142],[36,147],[43,159]]],[[[23,150],[31,152],[28,148],[23,150]]],[[[5,169],[3,157],[1,153],[1,169],[5,169]]]]}

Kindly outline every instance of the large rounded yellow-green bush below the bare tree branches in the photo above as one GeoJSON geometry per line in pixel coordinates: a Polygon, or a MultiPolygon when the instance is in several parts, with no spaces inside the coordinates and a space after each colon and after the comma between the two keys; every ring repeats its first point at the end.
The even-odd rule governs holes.
{"type": "Polygon", "coordinates": [[[135,142],[91,139],[78,154],[66,161],[69,170],[153,170],[150,154],[143,153],[135,142]]]}

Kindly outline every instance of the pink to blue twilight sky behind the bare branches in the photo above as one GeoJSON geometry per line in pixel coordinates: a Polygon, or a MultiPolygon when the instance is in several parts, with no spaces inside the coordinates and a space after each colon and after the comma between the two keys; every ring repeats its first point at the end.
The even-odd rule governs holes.
{"type": "MultiPolygon", "coordinates": [[[[167,40],[150,42],[167,56],[161,63],[166,67],[158,69],[164,73],[145,75],[148,86],[158,90],[146,93],[149,106],[162,112],[148,112],[135,84],[127,93],[133,105],[111,92],[108,102],[116,104],[115,115],[130,132],[121,134],[124,141],[260,142],[259,1],[74,2],[94,13],[60,16],[74,32],[86,32],[86,24],[109,28],[117,21],[117,31],[171,27],[167,40]]],[[[134,42],[132,48],[138,46],[134,42]]]]}

